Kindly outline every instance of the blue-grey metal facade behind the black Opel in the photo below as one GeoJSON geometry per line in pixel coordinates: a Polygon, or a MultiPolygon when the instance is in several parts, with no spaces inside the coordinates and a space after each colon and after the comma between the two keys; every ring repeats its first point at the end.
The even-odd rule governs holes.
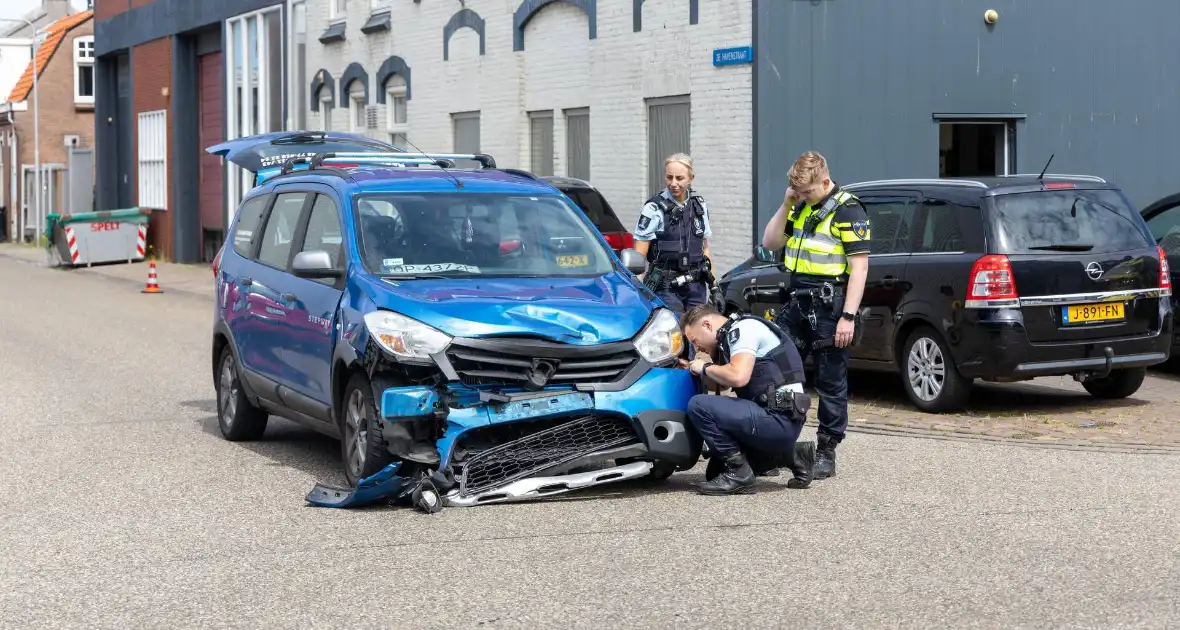
{"type": "Polygon", "coordinates": [[[1176,24],[1174,0],[754,0],[755,243],[806,150],[837,182],[937,177],[939,116],[1012,120],[1010,172],[1180,191],[1176,24]]]}

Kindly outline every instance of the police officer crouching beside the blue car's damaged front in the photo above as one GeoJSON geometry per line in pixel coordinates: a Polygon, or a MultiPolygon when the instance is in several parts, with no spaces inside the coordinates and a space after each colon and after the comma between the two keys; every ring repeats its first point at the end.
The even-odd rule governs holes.
{"type": "Polygon", "coordinates": [[[702,494],[750,492],[754,478],[771,468],[794,472],[787,487],[811,484],[815,442],[798,442],[811,399],[804,393],[804,363],[791,337],[753,315],[727,319],[712,304],[690,309],[684,336],[714,363],[684,363],[702,381],[733,387],[738,398],[697,394],[688,420],[709,447],[702,494]]]}

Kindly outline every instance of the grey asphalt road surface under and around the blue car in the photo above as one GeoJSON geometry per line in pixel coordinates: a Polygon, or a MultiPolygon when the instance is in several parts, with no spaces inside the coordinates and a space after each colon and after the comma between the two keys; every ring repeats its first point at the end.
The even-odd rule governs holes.
{"type": "Polygon", "coordinates": [[[1180,624],[1180,457],[853,434],[807,491],[315,508],[336,442],[217,434],[208,298],[0,286],[4,626],[1180,624]]]}

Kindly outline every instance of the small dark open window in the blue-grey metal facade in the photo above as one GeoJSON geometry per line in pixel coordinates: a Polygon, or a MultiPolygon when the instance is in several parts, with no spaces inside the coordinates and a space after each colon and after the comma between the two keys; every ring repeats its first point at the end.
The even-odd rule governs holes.
{"type": "Polygon", "coordinates": [[[995,177],[1010,175],[1010,125],[996,122],[938,124],[939,177],[995,177]]]}

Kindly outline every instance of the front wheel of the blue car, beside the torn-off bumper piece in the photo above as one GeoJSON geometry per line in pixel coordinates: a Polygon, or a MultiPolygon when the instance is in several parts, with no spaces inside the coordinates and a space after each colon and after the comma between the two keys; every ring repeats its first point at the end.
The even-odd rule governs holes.
{"type": "Polygon", "coordinates": [[[376,419],[373,386],[361,373],[355,373],[345,386],[340,399],[340,457],[349,487],[392,464],[395,458],[386,448],[385,439],[373,431],[376,419]]]}

